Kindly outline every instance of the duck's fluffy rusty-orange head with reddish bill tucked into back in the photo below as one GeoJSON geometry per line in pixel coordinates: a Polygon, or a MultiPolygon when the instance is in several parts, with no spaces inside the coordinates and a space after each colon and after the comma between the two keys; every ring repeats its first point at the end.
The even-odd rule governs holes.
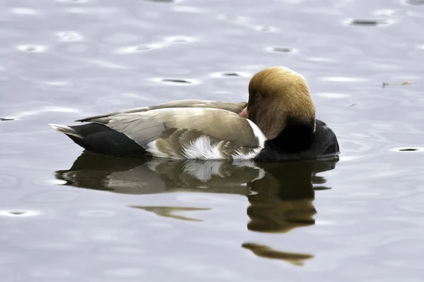
{"type": "Polygon", "coordinates": [[[300,138],[315,130],[315,106],[305,78],[283,66],[266,68],[252,77],[242,115],[256,123],[269,140],[284,131],[302,132],[300,138]]]}

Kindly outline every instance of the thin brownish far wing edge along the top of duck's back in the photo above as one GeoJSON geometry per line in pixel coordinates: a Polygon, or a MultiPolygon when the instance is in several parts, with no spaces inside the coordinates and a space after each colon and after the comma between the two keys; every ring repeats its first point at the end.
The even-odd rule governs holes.
{"type": "Polygon", "coordinates": [[[171,108],[211,108],[211,109],[223,109],[226,111],[232,111],[235,114],[239,114],[240,111],[245,109],[247,106],[247,102],[240,103],[232,103],[232,102],[217,102],[217,101],[209,101],[209,100],[177,100],[172,102],[167,102],[165,104],[159,104],[155,106],[145,106],[141,108],[127,109],[124,111],[117,111],[110,114],[104,114],[100,116],[90,116],[88,118],[81,118],[76,121],[90,121],[94,118],[105,118],[107,116],[114,116],[117,114],[132,114],[132,113],[140,113],[143,111],[151,111],[155,109],[171,109],[171,108]]]}

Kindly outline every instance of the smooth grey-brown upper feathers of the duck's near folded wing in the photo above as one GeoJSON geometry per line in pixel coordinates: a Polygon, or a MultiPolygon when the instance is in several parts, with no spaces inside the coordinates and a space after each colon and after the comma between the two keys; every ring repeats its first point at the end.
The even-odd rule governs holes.
{"type": "Polygon", "coordinates": [[[192,136],[199,136],[197,133],[200,133],[237,146],[259,146],[259,140],[247,119],[223,109],[155,109],[93,118],[87,121],[107,125],[124,133],[143,147],[148,142],[160,138],[165,130],[172,128],[193,130],[196,134],[192,136]]]}

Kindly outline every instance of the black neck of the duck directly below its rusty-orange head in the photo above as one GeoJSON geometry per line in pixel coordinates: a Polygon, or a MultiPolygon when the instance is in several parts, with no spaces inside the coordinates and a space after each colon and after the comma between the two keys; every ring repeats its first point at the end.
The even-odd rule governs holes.
{"type": "Polygon", "coordinates": [[[269,140],[269,142],[285,152],[302,152],[314,142],[314,132],[314,119],[310,121],[298,121],[294,118],[289,118],[285,124],[285,128],[281,130],[277,137],[269,140]]]}

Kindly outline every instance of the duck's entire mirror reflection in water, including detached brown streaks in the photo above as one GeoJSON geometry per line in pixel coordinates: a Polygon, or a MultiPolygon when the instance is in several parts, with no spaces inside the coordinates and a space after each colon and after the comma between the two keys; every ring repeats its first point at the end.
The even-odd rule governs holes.
{"type": "MultiPolygon", "coordinates": [[[[252,161],[120,158],[84,152],[69,170],[57,171],[56,178],[65,180],[65,185],[134,195],[177,191],[247,195],[250,203],[247,228],[278,233],[314,224],[314,184],[325,182],[316,173],[334,169],[337,161],[338,157],[255,164],[252,161]]],[[[136,208],[185,220],[196,219],[173,213],[198,209],[136,208]]],[[[304,259],[312,257],[281,252],[256,243],[242,246],[260,257],[283,259],[293,264],[302,264],[304,259]]]]}

